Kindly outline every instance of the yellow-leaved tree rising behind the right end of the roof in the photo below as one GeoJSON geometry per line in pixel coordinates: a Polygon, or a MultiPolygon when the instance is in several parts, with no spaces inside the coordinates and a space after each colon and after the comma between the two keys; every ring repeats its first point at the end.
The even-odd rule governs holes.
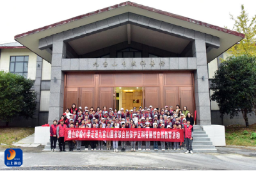
{"type": "Polygon", "coordinates": [[[230,14],[230,19],[235,22],[233,30],[243,33],[245,37],[228,49],[228,54],[231,56],[256,56],[256,15],[250,19],[242,4],[241,15],[235,18],[230,14]]]}

